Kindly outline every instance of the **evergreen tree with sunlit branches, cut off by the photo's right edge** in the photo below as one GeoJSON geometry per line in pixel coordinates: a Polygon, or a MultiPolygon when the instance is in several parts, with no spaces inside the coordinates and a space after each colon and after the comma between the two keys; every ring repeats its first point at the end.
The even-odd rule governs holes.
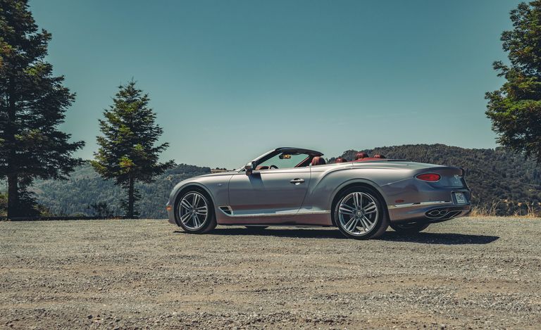
{"type": "Polygon", "coordinates": [[[511,64],[493,64],[506,82],[486,94],[486,114],[502,146],[541,163],[541,1],[510,14],[513,30],[502,33],[502,42],[511,64]]]}

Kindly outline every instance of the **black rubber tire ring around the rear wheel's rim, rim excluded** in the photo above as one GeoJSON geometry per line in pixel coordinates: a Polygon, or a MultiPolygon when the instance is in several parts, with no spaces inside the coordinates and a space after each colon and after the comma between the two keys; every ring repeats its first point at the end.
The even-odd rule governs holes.
{"type": "Polygon", "coordinates": [[[338,229],[340,229],[340,231],[342,232],[342,234],[344,234],[344,236],[350,239],[372,239],[372,238],[382,235],[387,230],[387,227],[389,227],[389,217],[387,216],[387,208],[385,208],[379,194],[375,193],[373,189],[368,189],[363,186],[354,186],[352,188],[342,191],[342,193],[340,193],[340,196],[337,198],[332,214],[333,214],[335,224],[338,227],[338,229]],[[342,224],[340,223],[340,218],[338,215],[340,202],[345,196],[353,192],[366,193],[367,195],[371,196],[373,200],[375,201],[376,207],[378,208],[378,220],[375,226],[371,229],[371,231],[368,231],[367,234],[364,234],[362,236],[349,234],[344,228],[342,228],[342,224]]]}

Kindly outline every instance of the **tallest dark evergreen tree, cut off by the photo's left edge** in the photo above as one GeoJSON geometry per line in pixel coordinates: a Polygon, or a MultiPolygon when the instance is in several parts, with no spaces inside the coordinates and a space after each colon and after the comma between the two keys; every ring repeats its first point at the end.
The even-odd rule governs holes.
{"type": "Polygon", "coordinates": [[[61,179],[81,160],[58,130],[74,94],[44,61],[51,34],[39,31],[26,0],[0,0],[0,178],[8,182],[8,217],[34,212],[33,179],[61,179]]]}

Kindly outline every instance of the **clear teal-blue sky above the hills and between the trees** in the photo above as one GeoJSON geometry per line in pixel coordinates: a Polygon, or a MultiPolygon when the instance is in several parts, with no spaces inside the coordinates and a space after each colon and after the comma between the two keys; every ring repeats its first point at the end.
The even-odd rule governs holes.
{"type": "Polygon", "coordinates": [[[485,91],[518,1],[30,1],[87,141],[132,77],[163,159],[238,167],[276,146],[494,148],[485,91]]]}

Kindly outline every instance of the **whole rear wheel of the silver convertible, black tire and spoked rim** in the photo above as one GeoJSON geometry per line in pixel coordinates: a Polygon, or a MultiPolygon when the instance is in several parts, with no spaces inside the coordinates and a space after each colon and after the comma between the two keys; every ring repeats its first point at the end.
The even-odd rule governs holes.
{"type": "Polygon", "coordinates": [[[333,215],[338,229],[350,239],[374,239],[389,227],[380,196],[366,187],[352,187],[340,193],[333,215]]]}

